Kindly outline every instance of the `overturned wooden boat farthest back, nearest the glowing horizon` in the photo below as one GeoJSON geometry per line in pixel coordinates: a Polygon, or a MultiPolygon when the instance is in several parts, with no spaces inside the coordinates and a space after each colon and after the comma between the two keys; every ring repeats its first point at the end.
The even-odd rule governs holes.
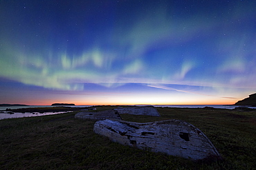
{"type": "Polygon", "coordinates": [[[125,107],[114,109],[119,114],[134,114],[134,115],[146,115],[146,116],[160,116],[157,109],[153,106],[142,106],[142,107],[125,107]]]}

